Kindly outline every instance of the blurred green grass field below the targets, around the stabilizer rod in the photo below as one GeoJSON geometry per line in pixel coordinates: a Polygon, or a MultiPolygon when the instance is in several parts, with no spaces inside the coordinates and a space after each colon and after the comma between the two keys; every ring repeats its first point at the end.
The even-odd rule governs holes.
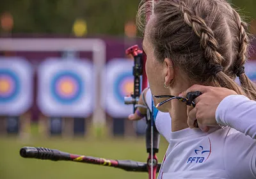
{"type": "MultiPolygon", "coordinates": [[[[20,139],[0,138],[0,178],[1,179],[45,179],[45,178],[147,178],[147,173],[134,173],[106,166],[76,162],[53,162],[48,160],[24,159],[20,157],[22,146],[44,146],[63,152],[83,154],[106,159],[131,159],[145,162],[148,154],[145,139],[20,139]]],[[[163,160],[167,143],[161,139],[159,162],[163,160]]]]}

